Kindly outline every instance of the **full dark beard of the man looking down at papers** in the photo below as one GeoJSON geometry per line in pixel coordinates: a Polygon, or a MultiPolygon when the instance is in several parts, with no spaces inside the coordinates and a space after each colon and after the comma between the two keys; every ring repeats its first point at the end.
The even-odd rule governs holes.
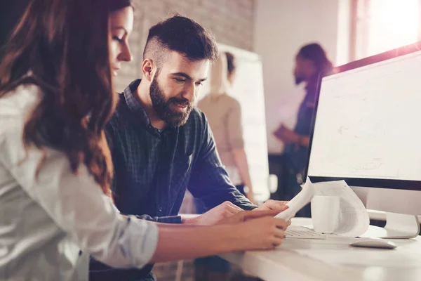
{"type": "Polygon", "coordinates": [[[163,91],[159,87],[158,81],[156,81],[156,75],[149,88],[149,95],[151,96],[152,107],[154,107],[159,119],[173,127],[179,127],[186,124],[193,108],[192,103],[190,103],[187,98],[173,97],[166,100],[163,91]],[[180,112],[171,109],[171,105],[187,105],[187,109],[184,112],[180,112]]]}

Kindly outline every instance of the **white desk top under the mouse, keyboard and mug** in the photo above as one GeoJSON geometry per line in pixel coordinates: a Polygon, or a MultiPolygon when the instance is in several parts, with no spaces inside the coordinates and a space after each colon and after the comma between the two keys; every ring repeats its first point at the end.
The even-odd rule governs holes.
{"type": "MultiPolygon", "coordinates": [[[[293,225],[309,226],[311,223],[311,218],[293,218],[293,225]]],[[[376,229],[378,228],[370,226],[367,235],[375,235],[376,229]]],[[[285,239],[280,247],[272,251],[246,251],[221,256],[265,281],[421,280],[421,237],[392,241],[398,245],[394,250],[349,247],[348,241],[343,240],[285,239]],[[384,265],[335,265],[298,254],[294,250],[310,250],[318,253],[330,250],[330,253],[335,251],[338,257],[341,254],[352,254],[351,251],[360,251],[357,254],[363,254],[365,259],[370,259],[370,254],[378,257],[379,253],[385,258],[389,255],[391,259],[384,265]],[[396,259],[396,255],[400,256],[397,262],[400,261],[403,266],[394,266],[396,263],[393,259],[396,259]]]]}

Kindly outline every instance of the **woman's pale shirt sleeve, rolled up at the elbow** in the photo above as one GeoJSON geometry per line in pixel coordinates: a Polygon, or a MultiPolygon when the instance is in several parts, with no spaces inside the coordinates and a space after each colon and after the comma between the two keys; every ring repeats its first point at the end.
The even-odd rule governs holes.
{"type": "Polygon", "coordinates": [[[25,150],[22,124],[10,126],[3,132],[6,137],[0,138],[0,163],[15,181],[46,216],[98,261],[119,268],[145,266],[156,249],[157,226],[119,214],[83,164],[74,174],[62,152],[25,150]]]}

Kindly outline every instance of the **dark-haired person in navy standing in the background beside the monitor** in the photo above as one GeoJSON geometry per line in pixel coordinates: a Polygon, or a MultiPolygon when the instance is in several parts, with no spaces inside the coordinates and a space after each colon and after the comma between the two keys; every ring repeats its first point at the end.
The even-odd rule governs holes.
{"type": "MultiPolygon", "coordinates": [[[[307,44],[300,48],[295,56],[294,78],[295,84],[305,83],[305,98],[298,111],[297,124],[293,130],[284,124],[274,131],[274,136],[286,144],[284,150],[285,169],[288,175],[287,188],[289,199],[300,192],[300,185],[307,164],[310,135],[312,133],[312,119],[316,103],[317,81],[319,76],[330,74],[333,65],[326,52],[316,43],[307,44]]],[[[309,206],[298,213],[298,216],[310,216],[309,206]]]]}

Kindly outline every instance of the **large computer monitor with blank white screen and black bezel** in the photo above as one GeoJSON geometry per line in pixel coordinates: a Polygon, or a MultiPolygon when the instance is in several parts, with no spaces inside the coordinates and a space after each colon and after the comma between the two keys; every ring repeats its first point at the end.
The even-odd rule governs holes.
{"type": "Polygon", "coordinates": [[[313,182],[344,179],[367,209],[421,214],[419,50],[421,43],[398,48],[321,79],[307,166],[313,182]]]}

